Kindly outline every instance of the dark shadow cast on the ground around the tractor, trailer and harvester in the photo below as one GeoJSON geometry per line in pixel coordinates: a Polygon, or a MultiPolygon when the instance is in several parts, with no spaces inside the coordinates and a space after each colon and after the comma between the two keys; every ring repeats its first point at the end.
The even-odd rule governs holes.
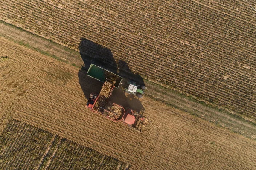
{"type": "Polygon", "coordinates": [[[79,84],[87,99],[91,92],[99,94],[103,85],[102,82],[86,75],[90,64],[95,64],[123,77],[119,89],[115,88],[109,98],[111,103],[122,105],[125,108],[130,107],[137,112],[144,112],[145,109],[140,100],[134,95],[128,95],[124,92],[125,87],[128,87],[128,79],[135,81],[137,84],[145,85],[143,78],[139,74],[131,72],[131,69],[125,61],[119,60],[116,62],[110,49],[90,40],[81,38],[78,48],[81,58],[84,61],[84,64],[78,72],[79,84]]]}

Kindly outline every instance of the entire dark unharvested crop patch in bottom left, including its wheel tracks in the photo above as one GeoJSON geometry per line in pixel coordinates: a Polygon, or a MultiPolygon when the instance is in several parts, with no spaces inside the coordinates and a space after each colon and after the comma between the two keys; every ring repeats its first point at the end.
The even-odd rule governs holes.
{"type": "Polygon", "coordinates": [[[128,170],[130,166],[11,119],[0,137],[0,167],[5,170],[128,170]]]}

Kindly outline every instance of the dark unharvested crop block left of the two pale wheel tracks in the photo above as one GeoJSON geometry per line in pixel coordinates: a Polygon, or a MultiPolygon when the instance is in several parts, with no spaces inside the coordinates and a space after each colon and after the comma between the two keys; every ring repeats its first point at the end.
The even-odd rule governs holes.
{"type": "Polygon", "coordinates": [[[52,134],[19,121],[11,121],[0,138],[0,167],[35,169],[52,134]]]}

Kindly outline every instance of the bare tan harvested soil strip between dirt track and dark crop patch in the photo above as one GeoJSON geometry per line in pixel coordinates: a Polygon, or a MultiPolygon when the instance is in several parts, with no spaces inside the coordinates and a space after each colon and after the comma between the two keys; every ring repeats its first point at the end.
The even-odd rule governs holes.
{"type": "MultiPolygon", "coordinates": [[[[52,148],[59,146],[58,150],[49,150],[49,153],[72,155],[73,161],[77,160],[79,153],[73,149],[70,150],[74,153],[64,150],[66,146],[81,152],[89,147],[129,164],[132,170],[256,169],[255,140],[147,97],[141,103],[150,122],[143,133],[139,133],[85,107],[84,92],[88,97],[90,92],[99,92],[102,86],[86,76],[86,72],[83,81],[79,82],[79,69],[75,67],[2,37],[0,44],[0,57],[3,58],[0,61],[1,137],[6,134],[8,122],[15,119],[42,129],[43,133],[49,132],[45,142],[53,140],[52,148]],[[53,138],[51,134],[58,137],[53,138]]],[[[38,155],[44,154],[43,149],[38,155]]],[[[49,159],[52,162],[44,167],[67,168],[66,164],[58,164],[57,157],[47,156],[46,160],[49,159]]],[[[41,159],[37,157],[36,160],[41,159]]],[[[63,161],[68,160],[64,158],[63,161]]]]}

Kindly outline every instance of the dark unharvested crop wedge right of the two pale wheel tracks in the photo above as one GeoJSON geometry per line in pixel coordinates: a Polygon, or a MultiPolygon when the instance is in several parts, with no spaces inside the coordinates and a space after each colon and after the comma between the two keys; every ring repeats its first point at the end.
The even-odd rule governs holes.
{"type": "Polygon", "coordinates": [[[55,157],[49,164],[49,170],[90,168],[114,170],[117,167],[118,170],[124,170],[129,168],[129,165],[67,140],[61,141],[55,157]]]}

